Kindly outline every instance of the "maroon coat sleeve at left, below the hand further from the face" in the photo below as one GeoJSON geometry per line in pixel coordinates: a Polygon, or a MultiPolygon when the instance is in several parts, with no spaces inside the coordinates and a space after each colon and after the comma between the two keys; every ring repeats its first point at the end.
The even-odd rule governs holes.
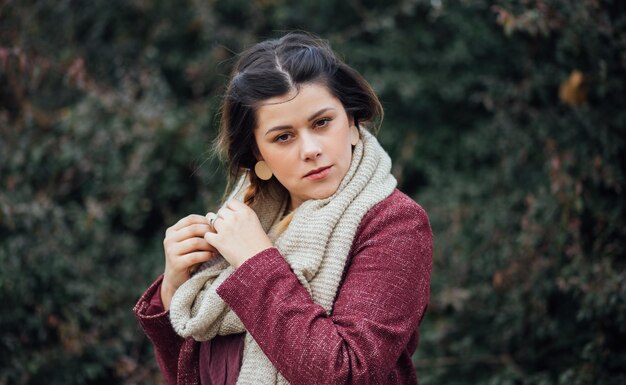
{"type": "Polygon", "coordinates": [[[176,384],[178,358],[185,340],[174,331],[170,322],[169,311],[161,302],[160,276],[141,296],[135,308],[135,317],[146,336],[152,342],[154,355],[165,381],[176,384]]]}

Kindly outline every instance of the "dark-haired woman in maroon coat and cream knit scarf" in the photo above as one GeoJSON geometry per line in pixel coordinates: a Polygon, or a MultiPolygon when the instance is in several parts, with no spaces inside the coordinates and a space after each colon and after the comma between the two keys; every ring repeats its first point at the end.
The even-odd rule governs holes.
{"type": "Polygon", "coordinates": [[[240,56],[222,114],[230,198],[167,230],[135,307],[166,381],[416,384],[432,234],[365,129],[372,88],[290,33],[240,56]]]}

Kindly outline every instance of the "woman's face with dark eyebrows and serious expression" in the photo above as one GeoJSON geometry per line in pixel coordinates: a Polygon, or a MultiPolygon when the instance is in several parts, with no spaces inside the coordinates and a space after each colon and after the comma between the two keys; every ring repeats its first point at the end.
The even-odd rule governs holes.
{"type": "Polygon", "coordinates": [[[289,191],[291,208],[335,193],[352,159],[352,119],[326,86],[306,84],[266,100],[254,136],[264,160],[289,191]]]}

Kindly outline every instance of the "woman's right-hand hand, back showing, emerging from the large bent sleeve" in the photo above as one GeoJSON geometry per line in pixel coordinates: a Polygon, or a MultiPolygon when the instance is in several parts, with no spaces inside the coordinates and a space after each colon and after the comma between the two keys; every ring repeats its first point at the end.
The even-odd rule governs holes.
{"type": "Polygon", "coordinates": [[[204,234],[204,239],[235,268],[274,246],[254,210],[236,199],[228,201],[217,212],[213,228],[215,232],[204,234]]]}

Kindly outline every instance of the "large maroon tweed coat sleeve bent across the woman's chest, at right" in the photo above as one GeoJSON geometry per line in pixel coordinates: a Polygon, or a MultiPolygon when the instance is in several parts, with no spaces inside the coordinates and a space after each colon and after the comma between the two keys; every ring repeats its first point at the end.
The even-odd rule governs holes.
{"type": "Polygon", "coordinates": [[[330,316],[276,248],[246,261],[218,288],[292,385],[386,383],[400,356],[415,350],[432,233],[426,213],[411,203],[366,215],[330,316]]]}

